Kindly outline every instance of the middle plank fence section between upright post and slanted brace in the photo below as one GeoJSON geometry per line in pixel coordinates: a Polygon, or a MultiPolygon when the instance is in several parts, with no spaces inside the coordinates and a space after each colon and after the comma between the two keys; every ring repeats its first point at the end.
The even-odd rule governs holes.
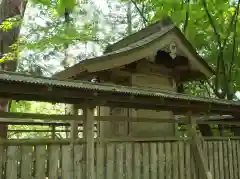
{"type": "MultiPolygon", "coordinates": [[[[97,179],[192,179],[194,163],[184,142],[108,143],[97,179]]],[[[101,155],[98,153],[97,155],[101,155]]],[[[98,172],[98,171],[97,171],[98,172]]]]}

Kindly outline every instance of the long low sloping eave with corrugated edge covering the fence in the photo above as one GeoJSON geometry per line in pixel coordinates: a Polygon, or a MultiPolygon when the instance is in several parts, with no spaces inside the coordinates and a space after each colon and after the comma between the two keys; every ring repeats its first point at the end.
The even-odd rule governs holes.
{"type": "Polygon", "coordinates": [[[163,90],[56,80],[16,73],[0,73],[0,96],[16,100],[118,106],[136,109],[187,111],[240,116],[240,103],[194,97],[163,90]]]}

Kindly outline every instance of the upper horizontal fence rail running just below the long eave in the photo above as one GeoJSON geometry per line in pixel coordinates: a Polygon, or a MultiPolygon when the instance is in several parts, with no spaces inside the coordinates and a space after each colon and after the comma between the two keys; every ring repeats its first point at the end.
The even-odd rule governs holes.
{"type": "MultiPolygon", "coordinates": [[[[233,116],[193,116],[197,124],[225,124],[225,125],[240,125],[239,120],[234,120],[233,116]]],[[[95,116],[96,121],[126,121],[126,122],[154,122],[154,123],[184,123],[186,116],[180,119],[173,118],[131,118],[124,116],[95,116]]],[[[29,124],[29,125],[70,125],[72,121],[75,124],[82,124],[84,115],[48,115],[48,114],[33,114],[33,113],[0,113],[0,123],[29,124]]]]}

